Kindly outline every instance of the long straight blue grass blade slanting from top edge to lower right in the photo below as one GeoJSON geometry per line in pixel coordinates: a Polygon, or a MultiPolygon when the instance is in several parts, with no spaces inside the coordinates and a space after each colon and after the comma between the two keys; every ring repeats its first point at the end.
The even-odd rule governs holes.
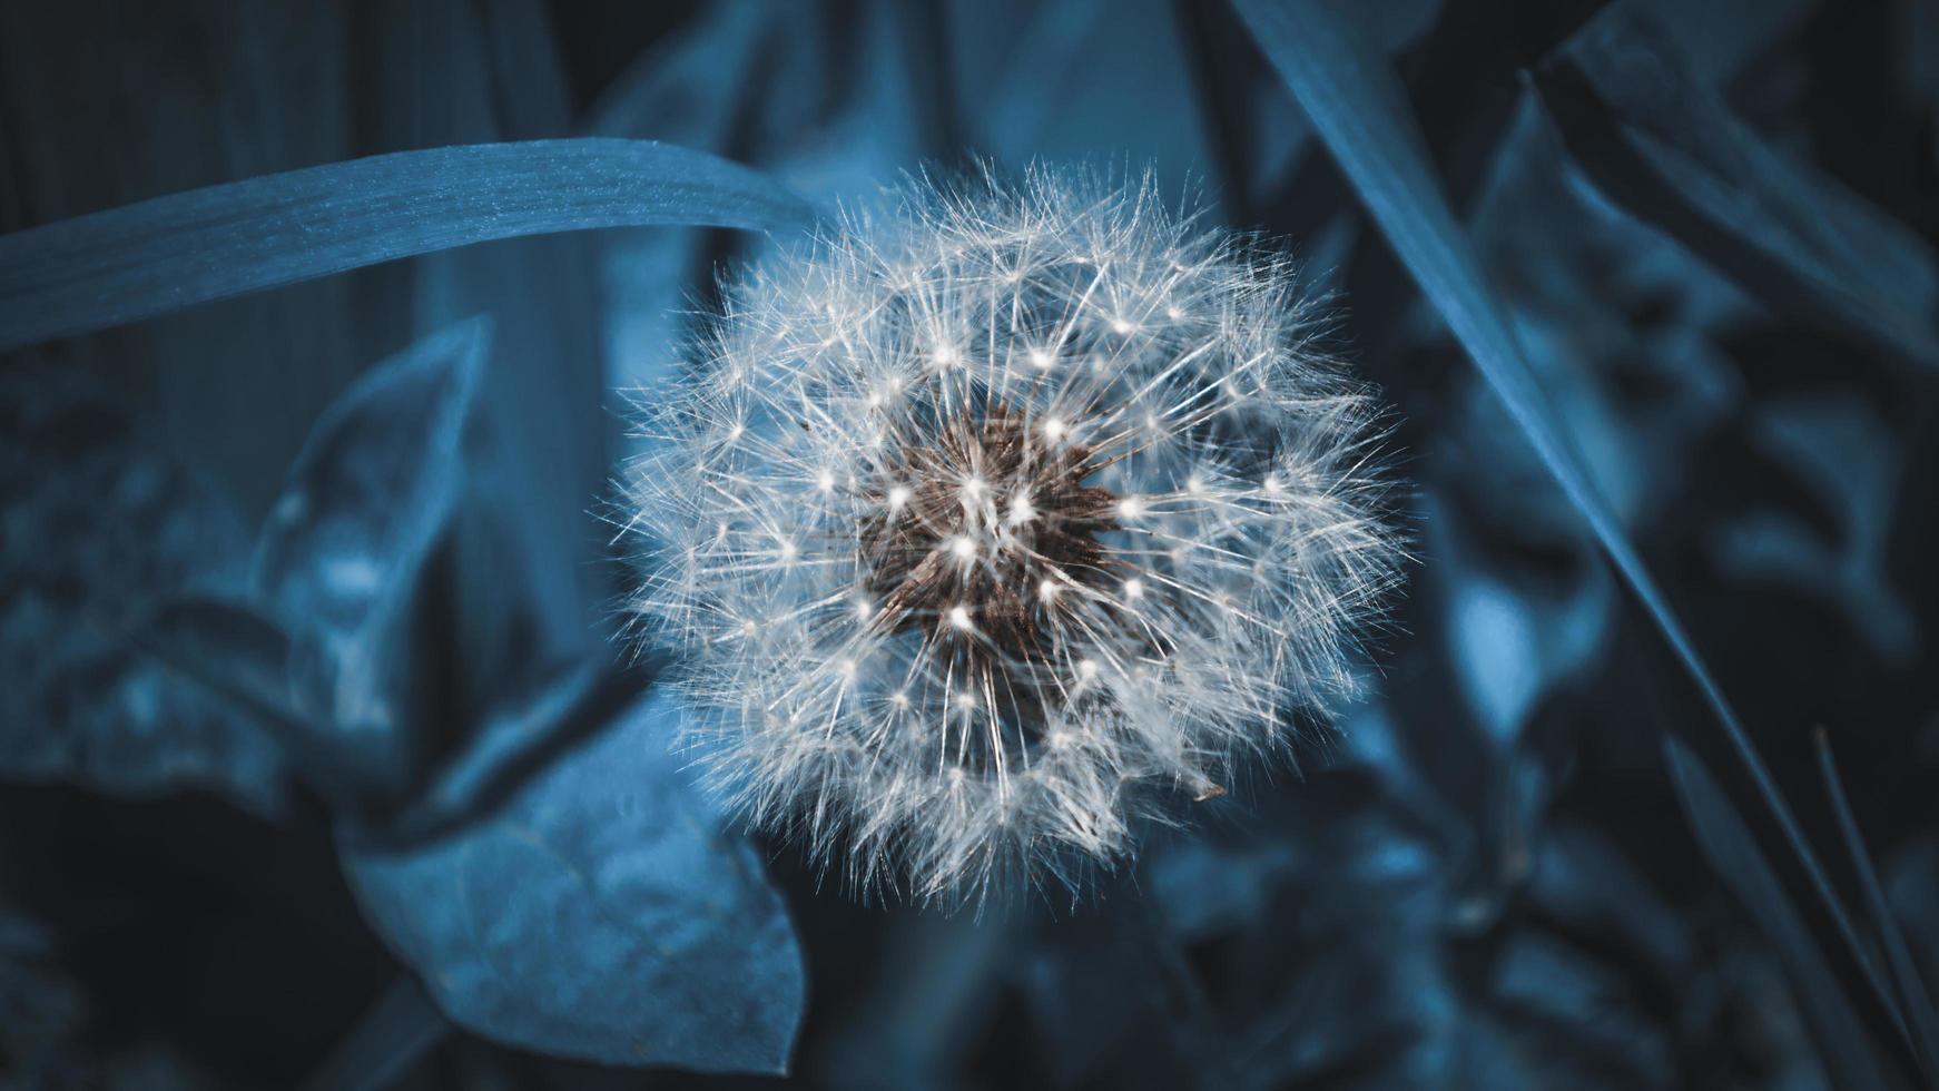
{"type": "Polygon", "coordinates": [[[1836,926],[1852,967],[1869,986],[1869,1000],[1891,1015],[1889,992],[1751,736],[1697,655],[1697,645],[1669,608],[1642,556],[1629,543],[1615,512],[1596,490],[1574,446],[1555,424],[1555,413],[1536,386],[1499,300],[1485,287],[1481,264],[1448,207],[1425,141],[1384,58],[1359,41],[1322,0],[1233,0],[1233,6],[1313,120],[1394,254],[1474,358],[1509,417],[1561,484],[1571,506],[1582,514],[1617,574],[1697,682],[1730,750],[1809,876],[1813,893],[1836,926]]]}

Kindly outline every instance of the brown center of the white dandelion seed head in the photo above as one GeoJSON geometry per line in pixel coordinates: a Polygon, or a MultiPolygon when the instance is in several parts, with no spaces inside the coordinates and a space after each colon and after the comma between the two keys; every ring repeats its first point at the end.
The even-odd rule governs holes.
{"type": "Polygon", "coordinates": [[[1094,452],[1002,405],[894,450],[861,541],[878,624],[1041,661],[1045,626],[1109,568],[1097,535],[1117,529],[1117,496],[1084,484],[1094,452]]]}

